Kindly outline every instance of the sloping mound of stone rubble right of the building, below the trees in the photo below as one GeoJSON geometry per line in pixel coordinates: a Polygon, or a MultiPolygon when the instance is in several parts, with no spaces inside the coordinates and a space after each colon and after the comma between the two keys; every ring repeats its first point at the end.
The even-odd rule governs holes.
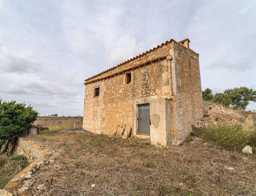
{"type": "Polygon", "coordinates": [[[203,101],[204,118],[198,119],[194,124],[195,127],[203,127],[208,125],[217,125],[221,123],[242,124],[245,117],[237,110],[221,107],[208,101],[203,101]]]}

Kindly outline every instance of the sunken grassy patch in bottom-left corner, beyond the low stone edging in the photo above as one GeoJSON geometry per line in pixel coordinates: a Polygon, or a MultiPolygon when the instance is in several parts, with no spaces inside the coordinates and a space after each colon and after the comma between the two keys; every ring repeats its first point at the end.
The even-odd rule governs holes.
{"type": "Polygon", "coordinates": [[[15,155],[6,156],[0,155],[0,189],[11,180],[17,173],[20,173],[29,162],[25,156],[15,155]]]}

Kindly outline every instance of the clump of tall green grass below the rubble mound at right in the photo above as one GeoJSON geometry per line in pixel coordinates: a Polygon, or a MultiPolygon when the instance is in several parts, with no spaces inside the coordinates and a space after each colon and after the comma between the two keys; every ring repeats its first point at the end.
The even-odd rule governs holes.
{"type": "Polygon", "coordinates": [[[220,124],[197,128],[193,134],[213,141],[227,150],[242,150],[246,145],[256,147],[255,127],[243,128],[242,125],[220,124]]]}

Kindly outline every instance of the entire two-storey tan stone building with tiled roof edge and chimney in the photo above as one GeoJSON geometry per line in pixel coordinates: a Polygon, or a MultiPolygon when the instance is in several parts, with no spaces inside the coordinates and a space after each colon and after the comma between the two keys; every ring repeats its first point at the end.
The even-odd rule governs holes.
{"type": "Polygon", "coordinates": [[[203,115],[199,54],[189,39],[166,41],[85,80],[83,129],[109,134],[114,124],[152,144],[180,144],[203,115]]]}

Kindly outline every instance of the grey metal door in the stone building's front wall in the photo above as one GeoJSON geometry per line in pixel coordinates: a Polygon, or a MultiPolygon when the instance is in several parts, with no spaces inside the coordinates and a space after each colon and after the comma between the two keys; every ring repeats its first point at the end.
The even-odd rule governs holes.
{"type": "Polygon", "coordinates": [[[150,135],[150,111],[149,104],[139,105],[138,134],[150,135]]]}

